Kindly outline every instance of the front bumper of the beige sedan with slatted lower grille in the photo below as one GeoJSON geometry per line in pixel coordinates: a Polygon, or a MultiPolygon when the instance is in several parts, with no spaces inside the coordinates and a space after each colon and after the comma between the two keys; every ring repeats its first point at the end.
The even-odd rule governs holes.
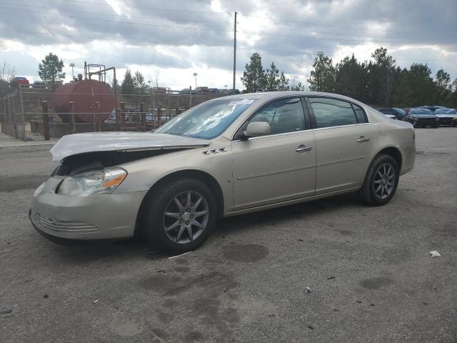
{"type": "Polygon", "coordinates": [[[30,221],[45,237],[112,239],[134,235],[146,191],[69,197],[55,192],[61,180],[49,178],[32,200],[30,221]]]}

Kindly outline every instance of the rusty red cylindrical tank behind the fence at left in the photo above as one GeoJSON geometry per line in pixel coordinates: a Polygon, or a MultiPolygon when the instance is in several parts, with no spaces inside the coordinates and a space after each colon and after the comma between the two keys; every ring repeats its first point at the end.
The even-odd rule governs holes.
{"type": "Polygon", "coordinates": [[[111,88],[101,81],[83,80],[70,82],[60,86],[51,97],[51,108],[61,115],[64,121],[69,121],[69,102],[74,102],[74,114],[79,121],[91,123],[94,121],[94,106],[100,102],[96,109],[96,117],[101,120],[108,119],[114,109],[114,94],[111,88]],[[94,94],[94,95],[92,95],[94,94]]]}

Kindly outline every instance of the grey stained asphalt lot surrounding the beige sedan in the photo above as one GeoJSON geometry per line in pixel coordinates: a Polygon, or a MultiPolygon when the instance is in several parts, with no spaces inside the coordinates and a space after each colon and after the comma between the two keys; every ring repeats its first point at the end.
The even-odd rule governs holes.
{"type": "Polygon", "coordinates": [[[348,194],[223,219],[175,259],[47,242],[28,210],[50,146],[3,147],[0,342],[457,342],[457,129],[416,145],[384,207],[348,194]]]}

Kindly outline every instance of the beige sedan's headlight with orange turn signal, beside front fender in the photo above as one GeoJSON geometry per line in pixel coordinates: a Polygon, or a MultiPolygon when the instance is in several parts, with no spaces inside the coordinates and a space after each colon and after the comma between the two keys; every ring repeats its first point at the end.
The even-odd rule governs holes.
{"type": "Polygon", "coordinates": [[[57,189],[58,194],[89,196],[110,194],[124,181],[127,172],[122,168],[107,168],[66,177],[57,189]]]}

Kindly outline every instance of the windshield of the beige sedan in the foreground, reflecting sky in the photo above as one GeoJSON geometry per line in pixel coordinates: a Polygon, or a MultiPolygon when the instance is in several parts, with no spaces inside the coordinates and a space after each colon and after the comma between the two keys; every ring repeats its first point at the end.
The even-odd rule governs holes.
{"type": "Polygon", "coordinates": [[[185,111],[155,132],[213,139],[224,132],[256,99],[216,99],[185,111]]]}

